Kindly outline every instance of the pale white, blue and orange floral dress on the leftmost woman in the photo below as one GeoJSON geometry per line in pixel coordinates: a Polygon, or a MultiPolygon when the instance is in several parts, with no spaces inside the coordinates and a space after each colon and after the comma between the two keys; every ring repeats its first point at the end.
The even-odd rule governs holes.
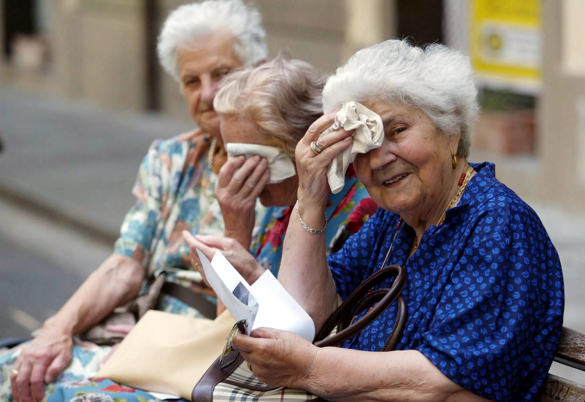
{"type": "MultiPolygon", "coordinates": [[[[218,176],[208,165],[209,146],[209,135],[201,130],[156,140],[150,146],[132,189],[136,204],[126,214],[120,238],[114,246],[115,253],[140,262],[146,269],[147,277],[164,272],[167,281],[189,286],[204,294],[209,289],[191,268],[190,249],[181,232],[186,229],[195,233],[223,235],[221,209],[214,196],[218,176]]],[[[159,298],[157,309],[192,317],[202,316],[197,310],[166,295],[159,298]]],[[[48,386],[49,389],[56,384],[64,384],[61,393],[68,394],[64,390],[75,387],[74,384],[87,385],[87,379],[97,374],[102,360],[111,351],[109,346],[98,346],[79,339],[74,341],[71,364],[55,384],[48,386]]],[[[12,402],[10,373],[20,354],[20,346],[0,354],[2,402],[12,402]]],[[[98,393],[103,393],[102,388],[98,393]]],[[[146,400],[149,398],[152,399],[146,395],[146,400]]],[[[119,397],[116,402],[126,402],[127,399],[119,397]]],[[[76,402],[81,400],[75,399],[76,402]]],[[[109,402],[108,398],[99,399],[97,396],[91,400],[109,402]]]]}

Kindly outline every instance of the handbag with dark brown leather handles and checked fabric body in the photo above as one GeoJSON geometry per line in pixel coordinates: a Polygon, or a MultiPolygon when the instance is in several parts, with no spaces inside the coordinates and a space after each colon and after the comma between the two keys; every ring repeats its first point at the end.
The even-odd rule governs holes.
{"type": "MultiPolygon", "coordinates": [[[[347,339],[353,338],[366,328],[375,319],[396,301],[398,304],[397,318],[390,338],[384,344],[381,351],[393,351],[400,341],[407,319],[407,305],[401,296],[402,288],[406,282],[404,267],[391,265],[371,275],[347,297],[347,299],[327,319],[319,333],[315,336],[315,345],[319,348],[325,346],[339,346],[347,339]],[[394,277],[390,288],[371,290],[382,281],[394,277]],[[360,312],[369,305],[374,305],[362,318],[353,322],[360,312]],[[331,335],[337,327],[335,335],[331,335]],[[331,335],[331,336],[329,336],[331,335]]],[[[283,387],[271,387],[258,380],[247,368],[242,355],[237,349],[232,350],[226,356],[226,361],[232,360],[228,366],[221,368],[219,358],[209,367],[207,372],[195,385],[191,400],[194,402],[252,402],[252,401],[324,401],[308,391],[283,387]],[[275,399],[276,398],[276,399],[275,399]]]]}

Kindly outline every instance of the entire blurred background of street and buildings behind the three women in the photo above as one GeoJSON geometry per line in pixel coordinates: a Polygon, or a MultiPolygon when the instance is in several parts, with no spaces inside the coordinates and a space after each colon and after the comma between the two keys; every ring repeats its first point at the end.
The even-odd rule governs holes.
{"type": "MultiPolygon", "coordinates": [[[[470,159],[536,209],[565,323],[585,331],[585,0],[249,1],[271,56],[324,72],[392,37],[469,53],[483,105],[470,159]]],[[[192,128],[156,57],[187,2],[0,0],[0,338],[38,328],[111,253],[150,142],[192,128]]]]}

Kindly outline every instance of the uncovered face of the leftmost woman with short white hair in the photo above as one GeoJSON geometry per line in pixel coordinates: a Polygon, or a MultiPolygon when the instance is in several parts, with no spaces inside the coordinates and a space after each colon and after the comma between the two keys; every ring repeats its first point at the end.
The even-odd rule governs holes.
{"type": "Polygon", "coordinates": [[[228,33],[199,36],[177,52],[181,88],[195,123],[206,132],[219,133],[214,97],[219,81],[242,66],[233,51],[235,38],[228,33]]]}

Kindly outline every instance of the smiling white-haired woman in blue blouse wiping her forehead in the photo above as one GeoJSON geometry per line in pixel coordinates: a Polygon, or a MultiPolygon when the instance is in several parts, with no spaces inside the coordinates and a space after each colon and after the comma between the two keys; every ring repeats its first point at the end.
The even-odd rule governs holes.
{"type": "Polygon", "coordinates": [[[383,121],[383,144],[355,160],[380,208],[329,257],[323,235],[291,219],[278,280],[319,329],[373,272],[404,266],[408,317],[397,350],[377,352],[394,307],[344,348],[263,328],[234,344],[260,380],[330,401],[535,400],[562,329],[563,277],[535,212],[493,164],[467,162],[478,114],[469,61],[438,44],[388,40],[338,68],[324,89],[327,114],[296,149],[299,211],[311,228],[324,225],[327,166],[351,142],[344,130],[319,135],[346,101],[383,121]]]}

